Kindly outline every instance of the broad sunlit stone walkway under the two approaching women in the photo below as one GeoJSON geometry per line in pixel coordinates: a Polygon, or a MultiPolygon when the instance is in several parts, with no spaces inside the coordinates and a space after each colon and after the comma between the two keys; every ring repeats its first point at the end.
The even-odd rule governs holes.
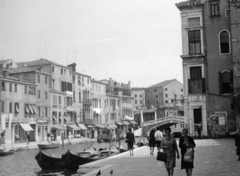
{"type": "MultiPolygon", "coordinates": [[[[193,176],[239,176],[240,161],[237,161],[234,139],[195,140],[195,160],[193,176]]],[[[150,156],[147,146],[134,150],[134,156],[129,152],[112,156],[103,160],[80,166],[78,174],[95,176],[99,169],[101,176],[167,176],[164,163],[156,160],[157,151],[150,156]],[[86,172],[85,172],[86,173],[86,172]]],[[[185,170],[180,168],[177,160],[174,176],[186,176],[185,170]]]]}

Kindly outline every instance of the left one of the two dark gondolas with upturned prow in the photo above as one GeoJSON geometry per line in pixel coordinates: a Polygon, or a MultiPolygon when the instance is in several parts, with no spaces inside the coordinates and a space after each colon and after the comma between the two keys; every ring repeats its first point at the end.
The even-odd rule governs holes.
{"type": "Polygon", "coordinates": [[[37,160],[37,163],[42,168],[42,170],[59,169],[59,168],[64,169],[65,168],[65,163],[62,160],[62,158],[47,155],[47,154],[43,153],[41,150],[35,156],[35,159],[37,160]]]}

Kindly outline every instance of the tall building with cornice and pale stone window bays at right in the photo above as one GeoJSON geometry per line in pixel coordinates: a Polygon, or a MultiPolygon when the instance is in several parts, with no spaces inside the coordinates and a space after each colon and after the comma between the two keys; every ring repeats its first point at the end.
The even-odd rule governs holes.
{"type": "Polygon", "coordinates": [[[186,127],[192,135],[200,124],[204,135],[231,132],[234,91],[239,90],[239,1],[189,0],[176,6],[182,21],[186,127]]]}

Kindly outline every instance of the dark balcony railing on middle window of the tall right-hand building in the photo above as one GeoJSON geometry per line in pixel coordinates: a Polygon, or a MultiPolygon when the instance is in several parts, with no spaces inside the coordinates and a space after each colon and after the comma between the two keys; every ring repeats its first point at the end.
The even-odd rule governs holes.
{"type": "Polygon", "coordinates": [[[205,93],[205,78],[188,79],[189,94],[205,93]]]}

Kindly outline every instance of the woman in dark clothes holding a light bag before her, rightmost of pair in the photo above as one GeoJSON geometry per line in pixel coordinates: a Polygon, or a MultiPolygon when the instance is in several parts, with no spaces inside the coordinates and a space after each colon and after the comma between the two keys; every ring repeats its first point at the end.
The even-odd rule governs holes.
{"type": "Polygon", "coordinates": [[[179,148],[181,149],[181,169],[185,169],[187,176],[192,176],[193,161],[194,161],[194,148],[196,144],[194,139],[188,136],[188,130],[183,129],[183,136],[179,140],[179,148]],[[189,158],[186,159],[186,152],[189,154],[189,158]]]}

